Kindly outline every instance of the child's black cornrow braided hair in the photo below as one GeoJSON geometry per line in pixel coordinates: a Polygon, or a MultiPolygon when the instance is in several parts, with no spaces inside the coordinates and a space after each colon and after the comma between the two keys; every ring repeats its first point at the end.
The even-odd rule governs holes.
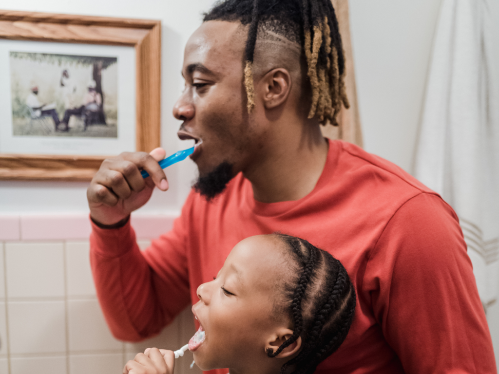
{"type": "Polygon", "coordinates": [[[268,357],[302,337],[301,350],[281,367],[281,374],[293,367],[291,374],[312,374],[319,363],[335,352],[345,340],[355,312],[355,290],[343,265],[331,254],[308,241],[284,234],[274,234],[295,260],[297,274],[287,285],[284,304],[293,322],[293,335],[268,357]]]}

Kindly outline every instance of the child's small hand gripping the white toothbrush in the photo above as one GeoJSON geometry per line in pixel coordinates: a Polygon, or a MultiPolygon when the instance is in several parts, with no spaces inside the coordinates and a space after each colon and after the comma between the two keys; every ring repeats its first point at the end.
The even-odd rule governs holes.
{"type": "Polygon", "coordinates": [[[173,351],[148,348],[126,363],[123,374],[173,374],[174,367],[173,351]]]}

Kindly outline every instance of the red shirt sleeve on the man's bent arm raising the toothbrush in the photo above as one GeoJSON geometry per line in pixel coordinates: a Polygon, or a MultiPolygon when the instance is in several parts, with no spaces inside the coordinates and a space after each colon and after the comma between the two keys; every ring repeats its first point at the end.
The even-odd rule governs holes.
{"type": "Polygon", "coordinates": [[[104,317],[117,339],[151,337],[189,304],[183,222],[182,216],[177,218],[170,232],[142,252],[130,222],[118,229],[92,223],[92,274],[104,317]],[[155,262],[159,257],[167,260],[155,262]]]}

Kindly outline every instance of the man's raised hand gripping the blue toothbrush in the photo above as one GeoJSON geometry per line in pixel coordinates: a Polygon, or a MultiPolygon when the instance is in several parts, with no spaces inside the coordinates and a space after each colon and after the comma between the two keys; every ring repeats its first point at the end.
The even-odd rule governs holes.
{"type": "Polygon", "coordinates": [[[166,191],[168,182],[158,161],[165,158],[165,150],[156,148],[145,152],[122,153],[102,162],[87,189],[90,216],[93,220],[112,225],[144,205],[154,186],[166,191]],[[140,170],[151,177],[142,178],[140,170]]]}

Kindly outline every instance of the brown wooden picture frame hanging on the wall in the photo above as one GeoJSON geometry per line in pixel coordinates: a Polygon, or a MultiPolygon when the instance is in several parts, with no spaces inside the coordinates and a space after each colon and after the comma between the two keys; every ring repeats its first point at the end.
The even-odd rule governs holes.
{"type": "MultiPolygon", "coordinates": [[[[134,47],[136,150],[160,146],[161,21],[0,10],[0,39],[134,47]]],[[[89,181],[103,159],[0,153],[0,180],[89,181]]]]}

